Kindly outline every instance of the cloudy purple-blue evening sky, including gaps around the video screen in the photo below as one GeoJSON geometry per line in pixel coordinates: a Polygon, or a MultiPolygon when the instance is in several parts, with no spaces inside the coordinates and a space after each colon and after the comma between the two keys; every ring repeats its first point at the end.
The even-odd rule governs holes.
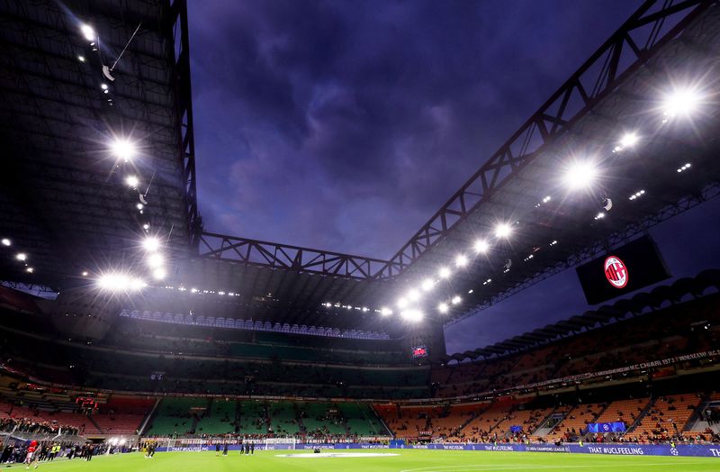
{"type": "MultiPolygon", "coordinates": [[[[189,2],[205,228],[390,258],[641,3],[189,2]]],[[[718,219],[711,202],[653,231],[674,276],[720,265],[718,219]]],[[[565,271],[447,349],[586,309],[565,271]]]]}

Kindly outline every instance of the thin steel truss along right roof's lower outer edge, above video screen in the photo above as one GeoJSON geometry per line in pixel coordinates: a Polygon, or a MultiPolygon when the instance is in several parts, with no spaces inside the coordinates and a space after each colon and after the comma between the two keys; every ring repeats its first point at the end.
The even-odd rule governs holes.
{"type": "Polygon", "coordinates": [[[525,280],[518,282],[517,285],[511,286],[499,294],[492,295],[490,299],[484,300],[482,303],[476,304],[473,308],[465,311],[456,318],[448,320],[445,323],[445,326],[448,327],[452,326],[456,322],[461,322],[465,318],[469,318],[474,314],[481,312],[485,308],[490,308],[493,304],[497,304],[500,301],[509,298],[511,295],[515,295],[530,286],[536,285],[538,282],[542,282],[545,278],[553,277],[554,275],[563,272],[565,269],[573,268],[584,262],[590,261],[598,257],[608,248],[617,247],[626,243],[637,234],[648,231],[653,226],[669,220],[673,216],[677,216],[680,213],[690,210],[698,206],[698,204],[703,204],[708,200],[716,198],[717,196],[720,196],[720,182],[714,182],[706,186],[698,194],[685,196],[676,204],[668,204],[663,207],[660,212],[645,216],[640,221],[626,226],[621,231],[616,231],[610,234],[607,239],[595,241],[587,247],[576,250],[567,259],[560,261],[553,266],[544,268],[536,274],[527,277],[525,280]]]}

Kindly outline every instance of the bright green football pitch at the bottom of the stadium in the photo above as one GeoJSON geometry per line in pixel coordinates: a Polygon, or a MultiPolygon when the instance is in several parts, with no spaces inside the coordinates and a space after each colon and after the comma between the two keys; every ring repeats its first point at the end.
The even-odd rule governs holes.
{"type": "MultiPolygon", "coordinates": [[[[286,472],[475,472],[483,470],[593,470],[608,472],[673,471],[702,472],[720,470],[720,458],[678,458],[660,456],[594,456],[549,452],[481,452],[455,450],[403,450],[336,452],[322,454],[306,451],[256,451],[240,456],[230,451],[227,457],[215,452],[158,452],[154,458],[142,453],[118,454],[82,459],[60,459],[40,463],[40,470],[51,472],[204,472],[258,471],[286,472]]],[[[21,464],[3,466],[2,470],[24,470],[21,464]]]]}

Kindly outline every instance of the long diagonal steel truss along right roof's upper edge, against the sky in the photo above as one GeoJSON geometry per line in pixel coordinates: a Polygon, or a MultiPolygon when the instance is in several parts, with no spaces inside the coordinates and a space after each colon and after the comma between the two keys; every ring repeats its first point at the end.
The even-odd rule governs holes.
{"type": "Polygon", "coordinates": [[[518,170],[569,132],[599,100],[713,3],[686,0],[671,5],[647,0],[388,261],[380,277],[399,275],[445,239],[459,222],[489,202],[518,170]],[[678,19],[676,15],[684,16],[659,37],[664,21],[671,16],[678,19]]]}

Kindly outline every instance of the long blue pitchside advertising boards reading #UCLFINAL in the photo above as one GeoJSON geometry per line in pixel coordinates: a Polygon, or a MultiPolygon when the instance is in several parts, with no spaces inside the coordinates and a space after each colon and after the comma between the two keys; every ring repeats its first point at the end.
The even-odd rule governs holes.
{"type": "MultiPolygon", "coordinates": [[[[229,446],[229,450],[239,450],[238,444],[229,446]]],[[[393,441],[387,444],[338,443],[338,444],[257,444],[257,450],[287,449],[435,449],[435,450],[490,450],[504,452],[563,452],[572,454],[603,454],[612,456],[683,456],[720,458],[720,445],[717,444],[680,444],[674,448],[670,444],[402,444],[393,441]]],[[[157,452],[200,452],[211,450],[209,446],[184,448],[157,448],[157,452]]]]}

